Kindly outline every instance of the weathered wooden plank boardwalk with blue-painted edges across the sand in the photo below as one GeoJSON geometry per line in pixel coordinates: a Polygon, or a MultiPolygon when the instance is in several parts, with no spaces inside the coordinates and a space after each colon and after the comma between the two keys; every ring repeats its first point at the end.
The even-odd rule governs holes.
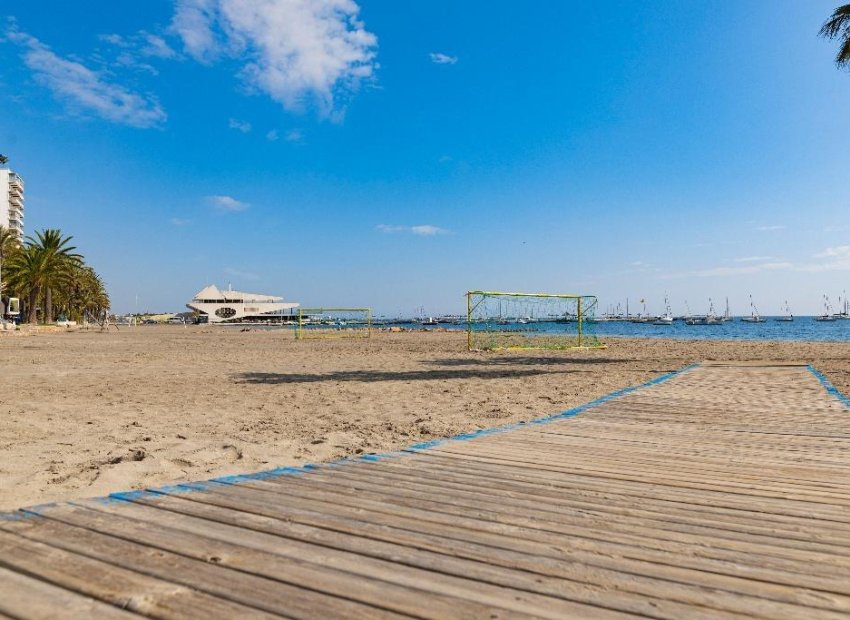
{"type": "Polygon", "coordinates": [[[4,515],[0,618],[850,617],[850,411],[806,367],[503,430],[4,515]]]}

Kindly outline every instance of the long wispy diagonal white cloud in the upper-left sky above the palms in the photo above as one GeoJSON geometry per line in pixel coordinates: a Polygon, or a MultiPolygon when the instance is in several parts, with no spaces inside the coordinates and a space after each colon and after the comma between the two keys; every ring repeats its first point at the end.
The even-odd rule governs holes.
{"type": "Polygon", "coordinates": [[[53,91],[72,111],[94,112],[132,127],[156,127],[165,122],[167,115],[155,97],[110,82],[103,74],[62,58],[35,37],[14,27],[7,37],[24,48],[24,63],[36,81],[53,91]]]}

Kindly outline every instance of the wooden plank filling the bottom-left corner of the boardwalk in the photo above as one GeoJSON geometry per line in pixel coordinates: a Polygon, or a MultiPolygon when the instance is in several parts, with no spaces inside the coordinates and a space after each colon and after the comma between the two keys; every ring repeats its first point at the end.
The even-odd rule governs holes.
{"type": "Polygon", "coordinates": [[[15,571],[0,568],[0,618],[128,620],[137,614],[15,571]]]}

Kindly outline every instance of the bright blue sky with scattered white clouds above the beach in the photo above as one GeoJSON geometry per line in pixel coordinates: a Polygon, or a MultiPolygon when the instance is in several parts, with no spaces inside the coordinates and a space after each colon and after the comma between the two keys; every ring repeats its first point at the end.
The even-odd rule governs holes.
{"type": "Polygon", "coordinates": [[[850,289],[834,4],[7,0],[0,152],[119,312],[817,313],[850,289]]]}

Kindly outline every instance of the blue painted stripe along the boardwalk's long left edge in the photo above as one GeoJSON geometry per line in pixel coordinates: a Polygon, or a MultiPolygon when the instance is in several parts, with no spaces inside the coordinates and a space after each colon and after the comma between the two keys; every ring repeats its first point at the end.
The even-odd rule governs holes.
{"type": "MultiPolygon", "coordinates": [[[[407,448],[402,448],[401,450],[395,450],[392,452],[382,452],[380,454],[364,454],[362,456],[345,457],[343,459],[330,461],[328,463],[307,463],[305,465],[301,465],[300,467],[277,467],[275,469],[269,469],[250,474],[221,476],[219,478],[212,478],[210,480],[200,482],[186,482],[183,484],[166,485],[162,487],[154,487],[140,491],[120,491],[116,493],[110,493],[106,497],[94,498],[94,501],[108,504],[112,502],[135,502],[139,500],[151,500],[156,499],[157,497],[161,497],[163,495],[180,495],[186,493],[203,492],[211,487],[220,485],[244,484],[246,482],[252,482],[256,480],[267,480],[269,478],[277,478],[280,476],[297,476],[302,474],[308,474],[310,472],[315,472],[319,469],[339,467],[351,463],[376,463],[389,458],[409,457],[416,454],[417,452],[422,452],[423,450],[428,450],[429,448],[440,446],[452,441],[468,441],[470,439],[476,439],[479,437],[484,437],[486,435],[506,433],[520,428],[525,428],[526,426],[530,425],[550,424],[559,420],[572,418],[574,416],[579,415],[580,413],[587,411],[588,409],[598,407],[599,405],[614,400],[615,398],[620,398],[621,396],[625,396],[626,394],[631,394],[632,392],[652,387],[654,385],[658,385],[659,383],[664,383],[665,381],[668,381],[683,372],[696,368],[697,366],[699,366],[699,364],[691,364],[679,370],[674,370],[673,372],[668,372],[658,377],[655,377],[654,379],[650,379],[649,381],[646,381],[639,385],[634,385],[631,387],[623,388],[622,390],[617,390],[616,392],[611,392],[610,394],[606,394],[601,398],[597,398],[596,400],[590,401],[583,405],[579,405],[578,407],[573,407],[572,409],[568,409],[567,411],[562,411],[561,413],[556,413],[543,418],[537,418],[529,422],[518,422],[514,424],[496,426],[493,428],[483,428],[478,431],[461,433],[459,435],[454,435],[453,437],[448,437],[445,439],[433,439],[431,441],[415,443],[411,446],[408,446],[407,448]]],[[[834,390],[835,388],[832,389],[834,390]]],[[[73,504],[73,502],[69,503],[73,504]]],[[[0,520],[22,519],[31,516],[37,516],[40,511],[49,510],[51,506],[55,505],[56,504],[45,504],[43,506],[34,506],[30,508],[21,509],[12,513],[0,513],[0,520]]]]}

